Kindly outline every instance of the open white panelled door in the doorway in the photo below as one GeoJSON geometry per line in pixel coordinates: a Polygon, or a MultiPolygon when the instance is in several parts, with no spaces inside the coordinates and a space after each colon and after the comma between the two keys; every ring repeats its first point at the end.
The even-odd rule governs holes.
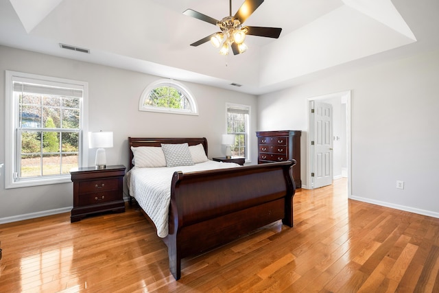
{"type": "Polygon", "coordinates": [[[314,101],[314,184],[332,184],[332,105],[314,101]]]}

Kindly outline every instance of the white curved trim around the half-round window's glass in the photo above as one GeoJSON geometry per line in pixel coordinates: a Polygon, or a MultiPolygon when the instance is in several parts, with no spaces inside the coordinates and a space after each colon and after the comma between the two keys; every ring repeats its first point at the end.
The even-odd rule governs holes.
{"type": "Polygon", "coordinates": [[[184,86],[182,83],[177,82],[176,80],[171,79],[162,79],[156,80],[148,85],[139,99],[139,111],[147,111],[147,112],[159,112],[159,113],[170,113],[170,114],[182,114],[182,115],[198,115],[198,105],[197,101],[193,97],[192,93],[184,86]],[[182,92],[187,99],[189,100],[189,104],[191,105],[191,109],[193,110],[185,110],[185,109],[176,109],[176,108],[165,108],[165,107],[156,107],[156,106],[145,106],[144,102],[150,95],[150,92],[153,89],[156,89],[160,86],[171,86],[178,91],[182,92]]]}

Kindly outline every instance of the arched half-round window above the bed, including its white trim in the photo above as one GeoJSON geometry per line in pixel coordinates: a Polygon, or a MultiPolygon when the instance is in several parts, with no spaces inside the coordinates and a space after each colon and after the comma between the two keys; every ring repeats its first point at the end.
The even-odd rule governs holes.
{"type": "Polygon", "coordinates": [[[143,91],[139,110],[198,115],[198,107],[188,89],[175,80],[157,80],[143,91]]]}

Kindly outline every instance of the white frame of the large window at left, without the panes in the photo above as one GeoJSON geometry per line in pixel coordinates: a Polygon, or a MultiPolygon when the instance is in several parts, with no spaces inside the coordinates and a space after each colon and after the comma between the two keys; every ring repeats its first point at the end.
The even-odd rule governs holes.
{"type": "Polygon", "coordinates": [[[79,132],[79,158],[78,167],[86,165],[88,161],[87,133],[88,128],[88,82],[77,80],[67,80],[64,78],[54,78],[45,75],[32,73],[21,73],[17,71],[5,71],[5,188],[31,187],[38,185],[49,185],[56,183],[70,183],[70,174],[60,174],[58,176],[41,176],[26,180],[16,180],[14,172],[18,167],[20,155],[17,146],[17,129],[19,128],[19,109],[18,103],[14,100],[14,81],[27,81],[48,86],[64,86],[83,91],[82,101],[80,102],[80,132],[79,132]]]}

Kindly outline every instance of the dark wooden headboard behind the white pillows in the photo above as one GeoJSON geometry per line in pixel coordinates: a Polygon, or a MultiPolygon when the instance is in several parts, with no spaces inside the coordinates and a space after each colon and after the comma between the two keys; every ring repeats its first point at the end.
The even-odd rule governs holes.
{"type": "Polygon", "coordinates": [[[204,147],[204,152],[206,152],[207,156],[207,139],[206,137],[196,137],[196,138],[147,138],[147,137],[128,137],[128,148],[130,152],[129,156],[129,169],[134,167],[132,165],[132,159],[134,155],[132,154],[131,147],[137,148],[140,146],[150,146],[150,147],[159,147],[161,143],[188,143],[189,145],[198,145],[202,144],[204,147]]]}

